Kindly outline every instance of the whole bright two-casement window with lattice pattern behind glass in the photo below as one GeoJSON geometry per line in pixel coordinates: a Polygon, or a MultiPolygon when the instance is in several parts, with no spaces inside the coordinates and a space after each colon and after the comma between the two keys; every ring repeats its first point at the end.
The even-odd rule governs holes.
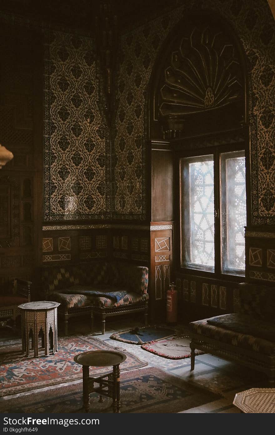
{"type": "Polygon", "coordinates": [[[244,275],[245,152],[182,158],[180,190],[182,267],[244,275]]]}

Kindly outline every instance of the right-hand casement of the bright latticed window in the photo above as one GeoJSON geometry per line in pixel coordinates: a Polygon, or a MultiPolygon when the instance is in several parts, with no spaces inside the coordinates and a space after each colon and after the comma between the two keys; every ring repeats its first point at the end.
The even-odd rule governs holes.
{"type": "Polygon", "coordinates": [[[245,271],[245,155],[244,151],[221,154],[222,273],[245,271]]]}

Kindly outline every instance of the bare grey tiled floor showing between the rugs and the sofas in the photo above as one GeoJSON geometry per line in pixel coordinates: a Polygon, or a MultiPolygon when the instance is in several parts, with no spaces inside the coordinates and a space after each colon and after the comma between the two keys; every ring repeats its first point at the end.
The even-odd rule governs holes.
{"type": "MultiPolygon", "coordinates": [[[[135,326],[142,326],[136,323],[135,326]]],[[[178,376],[192,385],[198,385],[207,390],[219,393],[221,398],[215,402],[182,411],[184,413],[237,413],[240,412],[232,402],[236,392],[252,387],[266,386],[266,379],[258,372],[241,367],[221,358],[205,354],[195,358],[195,370],[190,371],[190,358],[181,360],[169,360],[147,352],[139,345],[131,345],[110,339],[113,332],[125,331],[133,328],[130,320],[106,322],[106,334],[101,335],[100,331],[94,333],[96,338],[105,341],[109,345],[125,349],[142,361],[148,362],[148,366],[159,368],[169,374],[178,376]]],[[[184,331],[185,327],[178,327],[179,331],[184,331]]],[[[77,321],[71,325],[71,333],[87,334],[86,325],[79,324],[77,321]]],[[[3,337],[3,333],[1,334],[3,337]]],[[[8,338],[8,337],[7,337],[8,338]]],[[[147,367],[148,367],[147,366],[147,367]]],[[[140,368],[142,370],[142,368],[140,368]]]]}

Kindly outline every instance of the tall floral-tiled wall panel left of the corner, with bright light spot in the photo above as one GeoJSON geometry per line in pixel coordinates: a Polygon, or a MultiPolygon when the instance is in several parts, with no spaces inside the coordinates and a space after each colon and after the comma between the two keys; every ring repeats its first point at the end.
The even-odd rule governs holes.
{"type": "Polygon", "coordinates": [[[109,134],[93,40],[46,31],[44,65],[44,219],[109,218],[109,134]]]}

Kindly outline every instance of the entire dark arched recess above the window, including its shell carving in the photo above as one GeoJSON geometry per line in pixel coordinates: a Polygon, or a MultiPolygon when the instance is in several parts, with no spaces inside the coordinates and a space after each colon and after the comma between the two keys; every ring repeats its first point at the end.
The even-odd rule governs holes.
{"type": "Polygon", "coordinates": [[[232,32],[206,16],[181,23],[174,33],[156,66],[151,138],[240,128],[246,120],[245,74],[232,32]]]}

